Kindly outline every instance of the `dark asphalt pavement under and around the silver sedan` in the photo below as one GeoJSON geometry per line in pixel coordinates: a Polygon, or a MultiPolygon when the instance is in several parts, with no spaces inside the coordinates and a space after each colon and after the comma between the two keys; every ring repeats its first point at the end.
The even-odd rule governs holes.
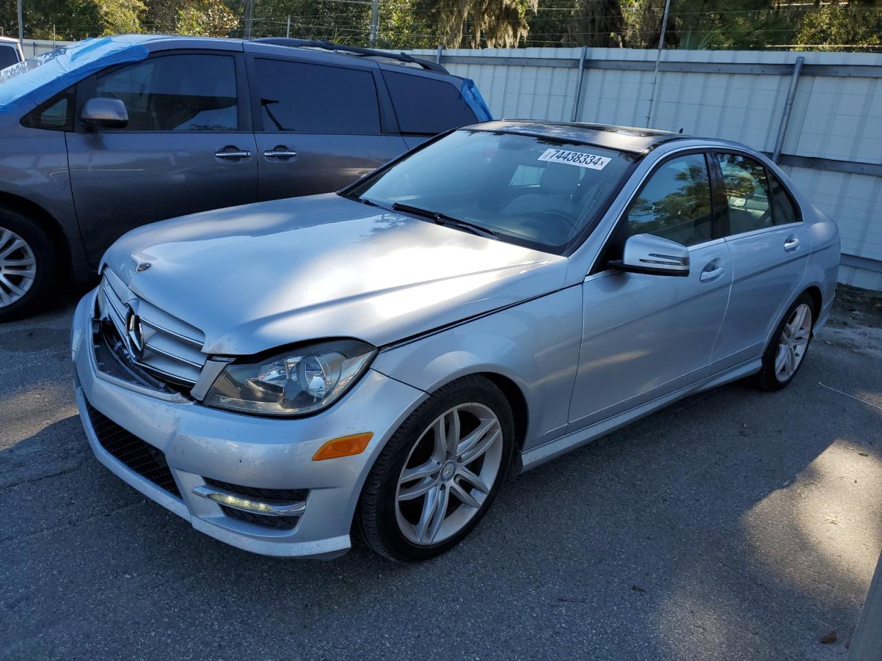
{"type": "Polygon", "coordinates": [[[71,313],[0,325],[0,659],[847,655],[882,548],[865,314],[788,389],[672,405],[508,482],[463,544],[405,566],[245,553],[116,479],[76,414],[71,313]]]}

